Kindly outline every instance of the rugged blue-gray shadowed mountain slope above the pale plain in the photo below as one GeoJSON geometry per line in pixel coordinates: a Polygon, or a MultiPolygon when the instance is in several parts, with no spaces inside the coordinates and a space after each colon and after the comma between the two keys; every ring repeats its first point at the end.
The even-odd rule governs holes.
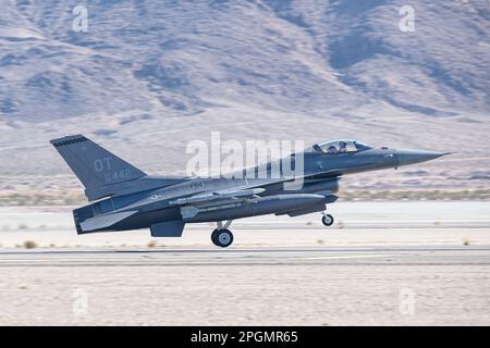
{"type": "Polygon", "coordinates": [[[397,1],[96,1],[87,33],[72,28],[76,4],[8,1],[4,117],[237,102],[311,113],[378,100],[429,115],[490,108],[487,1],[418,1],[415,33],[399,29],[397,1]]]}

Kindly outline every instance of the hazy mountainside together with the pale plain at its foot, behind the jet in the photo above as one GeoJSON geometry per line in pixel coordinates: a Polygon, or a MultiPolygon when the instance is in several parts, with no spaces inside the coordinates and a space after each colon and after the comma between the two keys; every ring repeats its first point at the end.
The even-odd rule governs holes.
{"type": "Polygon", "coordinates": [[[404,1],[87,3],[76,33],[78,1],[2,0],[0,173],[57,173],[47,141],[71,133],[168,173],[211,130],[490,150],[488,1],[412,1],[414,33],[404,1]]]}

